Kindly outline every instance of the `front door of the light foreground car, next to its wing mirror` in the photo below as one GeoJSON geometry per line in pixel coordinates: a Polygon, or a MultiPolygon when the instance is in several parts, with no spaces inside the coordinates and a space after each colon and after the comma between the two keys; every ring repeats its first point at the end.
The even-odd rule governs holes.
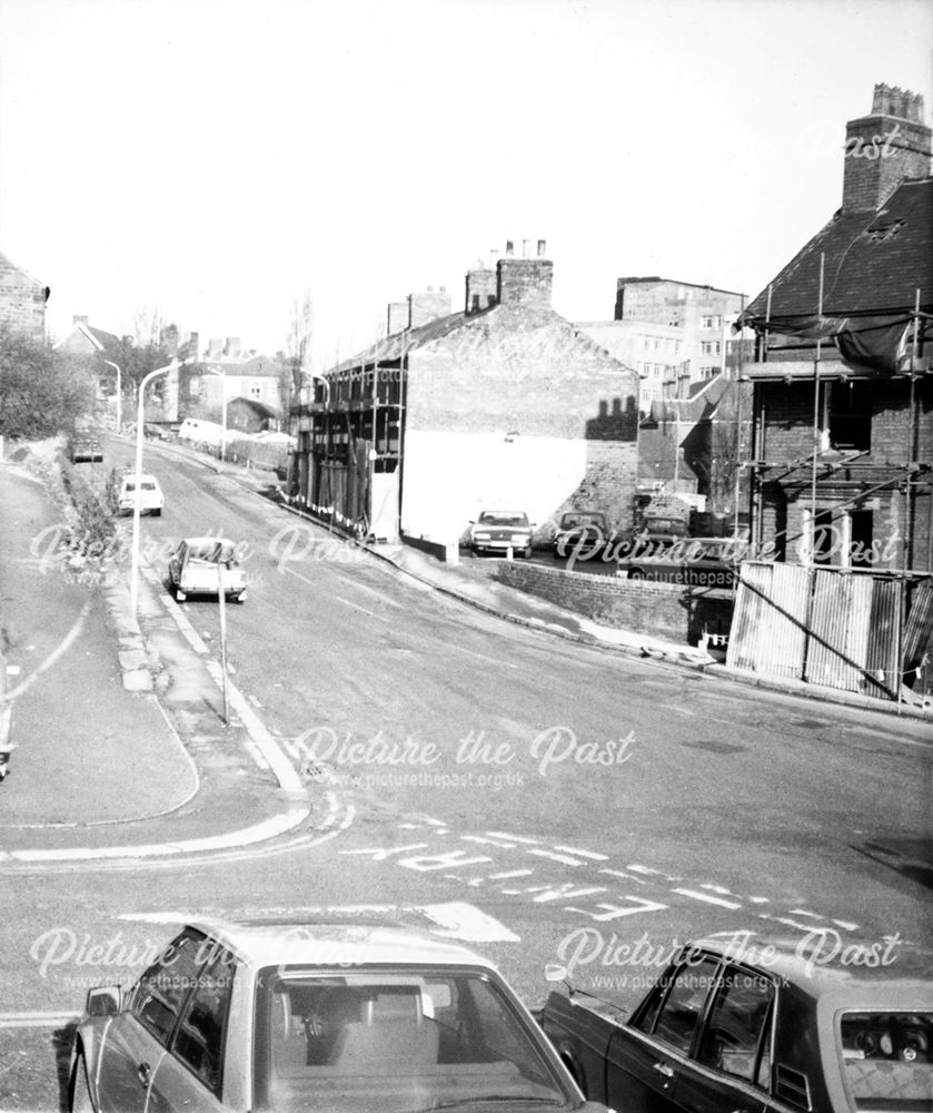
{"type": "Polygon", "coordinates": [[[98,1060],[103,1113],[143,1113],[178,1012],[202,963],[204,937],[183,932],[133,986],[110,1022],[98,1060]]]}

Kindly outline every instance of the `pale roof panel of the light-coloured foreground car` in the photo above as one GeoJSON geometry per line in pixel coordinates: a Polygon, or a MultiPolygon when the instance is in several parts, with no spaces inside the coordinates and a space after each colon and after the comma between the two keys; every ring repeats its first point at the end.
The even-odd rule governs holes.
{"type": "Polygon", "coordinates": [[[353,967],[360,965],[496,967],[449,938],[396,920],[360,916],[339,919],[294,917],[241,920],[202,919],[190,924],[217,939],[247,965],[353,967]]]}

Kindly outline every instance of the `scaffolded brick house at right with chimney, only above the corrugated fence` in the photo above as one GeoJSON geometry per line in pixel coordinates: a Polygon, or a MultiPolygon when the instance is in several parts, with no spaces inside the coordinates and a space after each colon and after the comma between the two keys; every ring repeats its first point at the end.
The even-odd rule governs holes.
{"type": "Polygon", "coordinates": [[[753,528],[788,562],[933,570],[930,159],[922,98],[876,86],[842,207],[745,315],[753,528]]]}

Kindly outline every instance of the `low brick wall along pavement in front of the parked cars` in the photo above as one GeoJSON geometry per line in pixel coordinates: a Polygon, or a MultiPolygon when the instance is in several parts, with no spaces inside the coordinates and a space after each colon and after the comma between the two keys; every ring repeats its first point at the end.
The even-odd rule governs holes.
{"type": "Polygon", "coordinates": [[[696,644],[704,628],[727,632],[733,601],[674,583],[646,583],[567,572],[525,561],[499,561],[496,578],[509,587],[576,611],[601,626],[696,644]]]}

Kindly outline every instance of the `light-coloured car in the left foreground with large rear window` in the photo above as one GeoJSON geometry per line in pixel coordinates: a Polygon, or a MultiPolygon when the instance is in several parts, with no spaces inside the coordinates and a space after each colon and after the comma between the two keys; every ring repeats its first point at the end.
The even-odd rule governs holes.
{"type": "Polygon", "coordinates": [[[186,927],[88,993],[69,1089],[71,1110],[597,1110],[489,962],[363,922],[186,927]]]}

